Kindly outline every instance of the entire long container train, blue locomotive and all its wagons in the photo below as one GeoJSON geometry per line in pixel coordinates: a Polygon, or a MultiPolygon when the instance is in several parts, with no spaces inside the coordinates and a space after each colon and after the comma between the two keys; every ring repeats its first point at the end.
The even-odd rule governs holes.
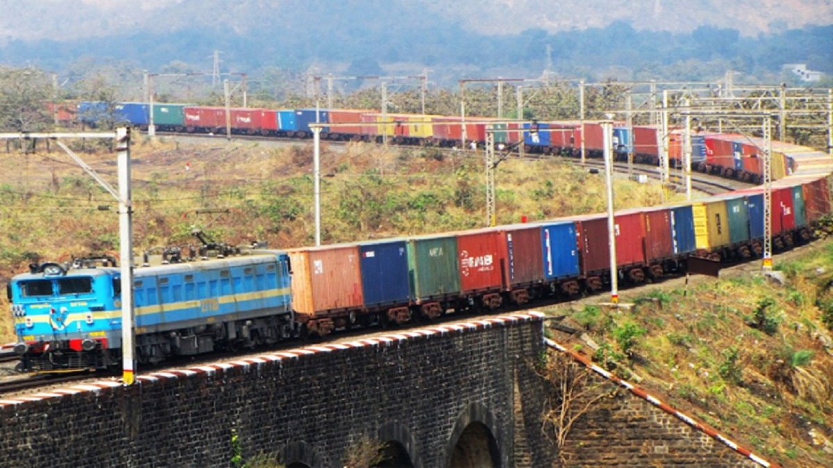
{"type": "MultiPolygon", "coordinates": [[[[140,110],[141,106],[137,105],[140,110]]],[[[182,117],[163,123],[158,117],[162,107],[172,105],[155,106],[159,106],[157,124],[170,125],[169,130],[218,130],[217,122],[206,124],[202,117],[209,108],[177,105],[169,111],[182,117]],[[192,115],[201,117],[188,117],[192,115]]],[[[132,115],[127,103],[121,108],[120,112],[132,115]]],[[[147,111],[147,106],[144,109],[147,111]]],[[[243,110],[235,112],[233,115],[239,116],[243,110]]],[[[261,123],[251,129],[236,127],[236,132],[307,137],[309,123],[315,122],[310,112],[316,112],[319,122],[344,123],[344,116],[355,121],[355,132],[347,132],[350,127],[333,127],[338,132],[327,132],[329,138],[378,137],[375,125],[375,136],[364,133],[370,132],[369,126],[362,130],[364,120],[380,118],[373,112],[292,110],[292,135],[284,123],[290,117],[282,117],[281,111],[260,112],[260,122],[268,116],[268,128],[261,123]]],[[[79,115],[84,115],[80,109],[79,115]]],[[[131,122],[142,127],[142,115],[131,122]]],[[[224,120],[225,109],[222,116],[224,120]]],[[[390,135],[401,135],[402,142],[418,132],[423,132],[417,138],[421,144],[462,142],[459,133],[442,133],[451,128],[459,132],[459,117],[431,117],[386,116],[393,119],[390,135]],[[433,123],[426,123],[428,120],[433,123]]],[[[251,117],[250,122],[257,122],[257,118],[251,117]]],[[[482,122],[465,125],[472,126],[468,135],[481,135],[480,129],[485,132],[486,128],[482,122]]],[[[537,123],[568,128],[550,133],[534,132],[530,123],[518,125],[516,129],[507,127],[497,141],[523,142],[530,148],[537,145],[540,152],[573,153],[576,142],[581,141],[576,132],[584,132],[586,147],[601,152],[601,145],[594,150],[596,125],[592,122],[537,123]]],[[[632,132],[635,147],[648,148],[637,154],[650,160],[658,141],[656,128],[646,128],[618,131],[621,142],[631,141],[621,132],[632,132]],[[645,143],[643,133],[651,135],[651,145],[645,143]]],[[[485,138],[485,133],[482,136],[485,138]]],[[[481,143],[478,138],[474,141],[481,143]]],[[[601,143],[601,134],[599,140],[601,143]]],[[[701,154],[696,163],[721,167],[726,177],[747,174],[751,179],[760,172],[760,150],[751,154],[751,148],[756,148],[754,139],[705,135],[694,144],[700,145],[697,152],[701,154]],[[721,162],[724,157],[718,155],[730,148],[727,161],[731,164],[721,162]],[[750,162],[753,159],[758,161],[750,162]]],[[[777,251],[811,240],[814,225],[831,214],[833,157],[783,143],[774,147],[781,154],[773,159],[777,180],[771,192],[771,241],[777,251]]],[[[762,188],[753,187],[692,202],[616,212],[616,274],[623,281],[638,283],[684,271],[692,256],[719,260],[761,256],[763,203],[762,188]]],[[[354,326],[402,324],[416,317],[430,320],[448,311],[491,311],[541,298],[575,296],[605,288],[611,275],[605,214],[330,246],[251,248],[240,255],[228,255],[232,252],[223,249],[217,253],[182,252],[168,256],[167,265],[136,267],[135,356],[140,364],[296,336],[327,336],[354,326]]],[[[17,333],[19,369],[117,366],[122,341],[120,278],[116,259],[107,257],[77,259],[70,264],[32,264],[29,272],[14,276],[7,295],[17,333]]]]}

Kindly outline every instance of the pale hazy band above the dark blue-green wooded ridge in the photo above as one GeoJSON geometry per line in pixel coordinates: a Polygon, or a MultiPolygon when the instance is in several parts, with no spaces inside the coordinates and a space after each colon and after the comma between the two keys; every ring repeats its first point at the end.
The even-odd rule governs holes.
{"type": "Polygon", "coordinates": [[[605,27],[616,20],[677,32],[708,23],[744,35],[833,24],[833,0],[0,0],[0,38],[90,37],[204,22],[275,24],[283,10],[316,3],[320,11],[327,2],[371,12],[407,5],[487,34],[605,27]]]}

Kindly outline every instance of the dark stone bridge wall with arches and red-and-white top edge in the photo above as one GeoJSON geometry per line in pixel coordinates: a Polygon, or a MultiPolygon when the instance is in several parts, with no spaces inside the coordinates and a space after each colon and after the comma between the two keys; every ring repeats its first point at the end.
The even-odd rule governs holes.
{"type": "Polygon", "coordinates": [[[232,429],[244,459],[342,466],[367,436],[446,466],[472,422],[500,466],[551,466],[542,352],[541,316],[504,316],[0,400],[0,466],[229,466],[232,429]]]}

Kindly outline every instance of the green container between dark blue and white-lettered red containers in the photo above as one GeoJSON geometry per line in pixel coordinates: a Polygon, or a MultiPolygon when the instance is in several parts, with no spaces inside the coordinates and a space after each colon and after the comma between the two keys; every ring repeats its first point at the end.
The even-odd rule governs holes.
{"type": "Polygon", "coordinates": [[[417,301],[460,292],[456,236],[421,236],[409,239],[408,273],[411,295],[417,301]]]}

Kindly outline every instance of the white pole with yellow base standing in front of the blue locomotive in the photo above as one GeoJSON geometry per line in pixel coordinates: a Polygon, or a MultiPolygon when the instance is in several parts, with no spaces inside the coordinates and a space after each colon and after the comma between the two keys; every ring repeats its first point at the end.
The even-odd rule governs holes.
{"type": "Polygon", "coordinates": [[[130,186],[130,132],[116,129],[118,152],[118,225],[122,257],[122,382],[132,385],[135,378],[133,357],[133,237],[132,192],[130,186]]]}

